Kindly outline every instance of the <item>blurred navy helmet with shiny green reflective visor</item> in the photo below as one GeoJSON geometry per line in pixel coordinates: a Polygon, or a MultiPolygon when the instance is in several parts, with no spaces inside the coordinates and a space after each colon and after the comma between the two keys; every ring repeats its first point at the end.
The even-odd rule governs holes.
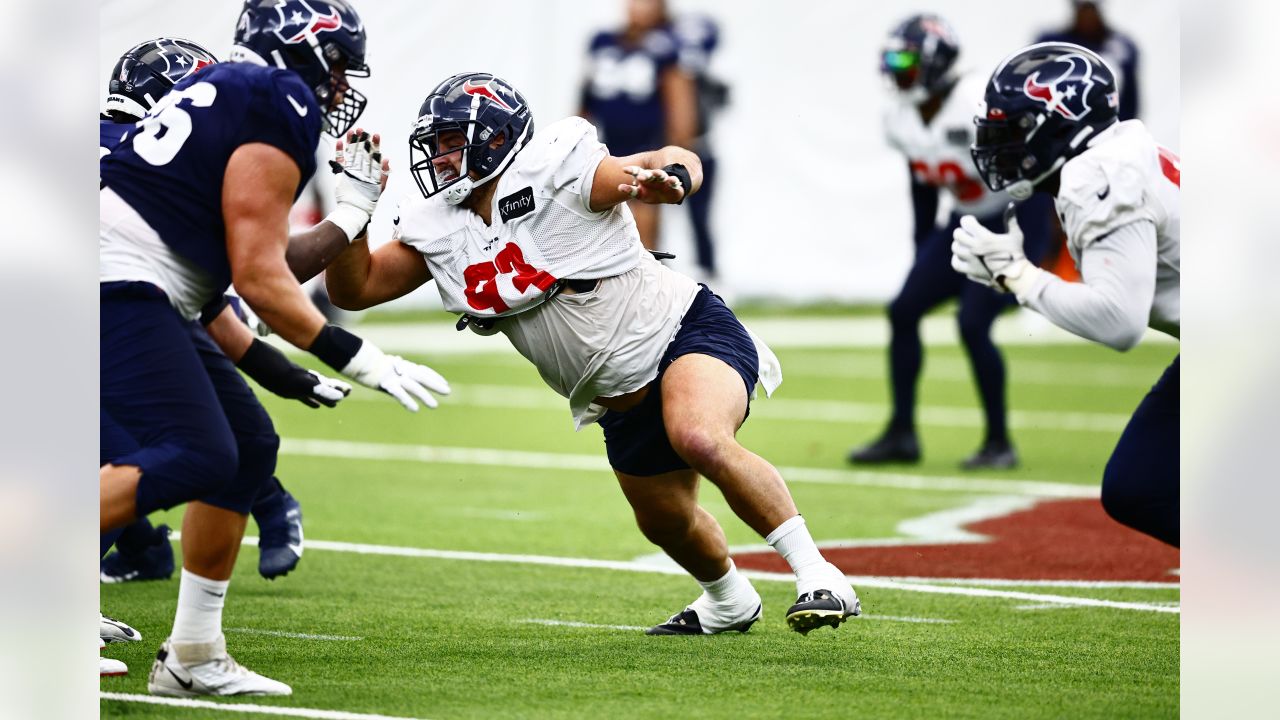
{"type": "Polygon", "coordinates": [[[900,94],[920,104],[951,87],[959,56],[960,42],[946,20],[932,14],[911,15],[888,33],[881,72],[900,94]]]}

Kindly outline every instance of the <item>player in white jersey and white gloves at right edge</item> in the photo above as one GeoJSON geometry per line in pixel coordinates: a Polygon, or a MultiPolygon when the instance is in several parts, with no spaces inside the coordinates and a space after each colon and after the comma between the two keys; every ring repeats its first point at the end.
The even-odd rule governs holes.
{"type": "MultiPolygon", "coordinates": [[[[1140,120],[1119,122],[1115,74],[1091,50],[1042,42],[991,76],[974,163],[1016,200],[1053,196],[1083,283],[1023,256],[1016,220],[996,233],[966,217],[952,265],[1010,292],[1056,325],[1116,350],[1151,327],[1179,337],[1181,167],[1140,120]]],[[[1137,530],[1179,543],[1179,369],[1174,359],[1134,411],[1102,477],[1102,505],[1137,530]]]]}

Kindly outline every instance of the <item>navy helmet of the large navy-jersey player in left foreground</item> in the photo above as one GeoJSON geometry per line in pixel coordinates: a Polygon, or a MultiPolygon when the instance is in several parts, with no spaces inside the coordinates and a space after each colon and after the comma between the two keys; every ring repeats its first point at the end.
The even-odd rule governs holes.
{"type": "Polygon", "coordinates": [[[230,58],[302,76],[334,137],[351,129],[369,104],[347,83],[348,77],[369,77],[369,65],[365,23],[346,0],[246,0],[230,58]]]}

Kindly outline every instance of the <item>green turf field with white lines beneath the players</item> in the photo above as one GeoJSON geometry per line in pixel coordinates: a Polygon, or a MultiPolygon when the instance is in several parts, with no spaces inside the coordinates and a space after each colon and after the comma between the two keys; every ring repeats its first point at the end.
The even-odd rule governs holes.
{"type": "MultiPolygon", "coordinates": [[[[785,469],[819,544],[892,538],[904,520],[1033,487],[1014,480],[1096,488],[1124,420],[1176,351],[1006,348],[1023,465],[1004,474],[956,468],[980,439],[957,346],[928,348],[918,466],[844,464],[887,415],[881,347],[778,350],[786,382],[753,405],[740,437],[785,469]],[[919,477],[961,484],[901,487],[919,477]],[[963,484],[974,479],[995,482],[963,484]]],[[[634,562],[655,548],[607,470],[599,429],[573,433],[567,404],[513,352],[413,359],[453,383],[435,411],[410,415],[362,389],[335,410],[262,395],[285,438],[278,475],[303,505],[308,544],[297,571],[275,582],[257,575],[257,551],[246,547],[224,626],[237,660],[294,694],[212,702],[436,720],[1178,715],[1170,587],[991,584],[982,587],[993,596],[974,596],[855,579],[865,618],[801,637],[782,618],[794,585],[758,575],[764,619],[750,633],[646,637],[637,628],[681,610],[698,587],[634,562]]],[[[703,498],[731,544],[762,542],[714,488],[703,498]]],[[[152,520],[177,528],[180,509],[152,520]]],[[[102,585],[104,611],[145,637],[105,651],[131,674],[102,680],[104,692],[148,697],[177,588],[177,579],[102,585]]],[[[102,716],[264,716],[137,700],[105,700],[102,716]]]]}

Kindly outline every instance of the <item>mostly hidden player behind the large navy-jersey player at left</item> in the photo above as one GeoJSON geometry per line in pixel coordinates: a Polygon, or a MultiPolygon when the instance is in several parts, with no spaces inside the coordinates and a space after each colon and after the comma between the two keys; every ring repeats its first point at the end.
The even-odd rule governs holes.
{"type": "MultiPolygon", "coordinates": [[[[146,110],[164,97],[174,83],[216,61],[209,50],[177,37],[148,40],[124,53],[111,70],[108,85],[100,123],[100,155],[108,154],[131,133],[146,110]]],[[[270,345],[252,337],[248,328],[238,322],[232,300],[228,296],[225,301],[201,313],[207,333],[196,333],[195,337],[202,352],[212,351],[209,345],[211,337],[219,350],[260,386],[311,407],[333,407],[346,397],[349,392],[346,383],[306,370],[270,345]]],[[[264,437],[274,434],[269,420],[265,427],[253,427],[253,423],[266,419],[265,413],[257,411],[256,402],[243,398],[237,407],[250,410],[232,418],[232,425],[239,432],[264,437]]],[[[242,443],[241,447],[243,450],[246,445],[242,443]]],[[[270,452],[274,443],[257,443],[255,447],[270,452]]],[[[106,456],[102,457],[104,462],[108,460],[106,456]]],[[[259,525],[259,573],[273,579],[293,570],[302,557],[302,507],[298,501],[273,478],[255,500],[252,515],[259,525]]],[[[138,518],[128,528],[104,536],[104,552],[110,548],[113,538],[116,552],[102,559],[102,582],[163,579],[173,574],[173,546],[169,543],[168,527],[152,528],[145,516],[138,518]]],[[[115,638],[119,634],[109,629],[106,621],[102,629],[104,637],[110,634],[115,638]]]]}

